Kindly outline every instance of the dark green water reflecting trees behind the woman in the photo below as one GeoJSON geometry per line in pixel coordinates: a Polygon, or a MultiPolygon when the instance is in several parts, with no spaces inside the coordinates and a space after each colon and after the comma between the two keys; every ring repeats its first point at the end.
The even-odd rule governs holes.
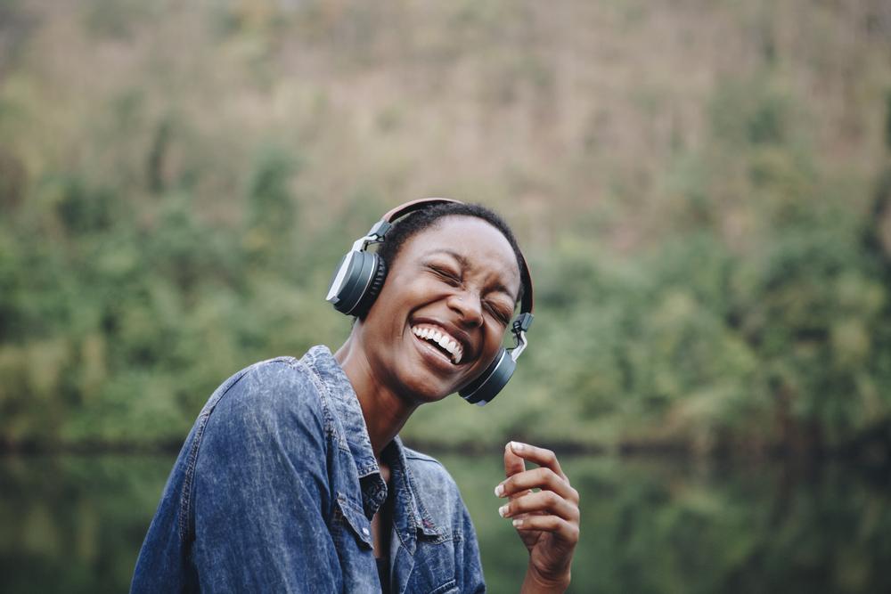
{"type": "MultiPolygon", "coordinates": [[[[173,460],[0,458],[0,591],[126,591],[173,460]]],[[[440,460],[474,519],[489,590],[519,590],[526,549],[492,493],[501,456],[440,460]]],[[[582,497],[570,591],[891,591],[887,472],[561,462],[582,497]]]]}

